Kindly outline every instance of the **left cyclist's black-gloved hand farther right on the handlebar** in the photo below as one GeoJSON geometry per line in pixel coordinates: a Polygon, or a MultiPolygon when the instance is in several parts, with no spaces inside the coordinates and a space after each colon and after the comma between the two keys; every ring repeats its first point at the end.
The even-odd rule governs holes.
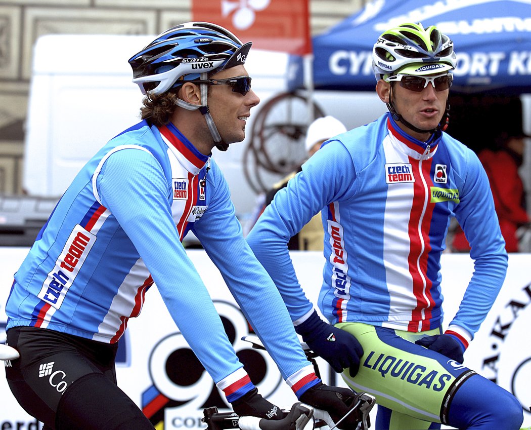
{"type": "MultiPolygon", "coordinates": [[[[348,388],[324,385],[320,382],[302,393],[299,400],[314,408],[327,411],[337,424],[352,409],[354,396],[354,392],[348,388]]],[[[356,428],[358,421],[358,414],[353,411],[338,424],[338,427],[342,430],[352,430],[356,428]]]]}

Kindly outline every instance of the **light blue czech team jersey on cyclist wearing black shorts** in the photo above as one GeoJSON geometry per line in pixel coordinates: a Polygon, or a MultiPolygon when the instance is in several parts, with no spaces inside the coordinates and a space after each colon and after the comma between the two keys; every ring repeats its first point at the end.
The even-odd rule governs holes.
{"type": "Polygon", "coordinates": [[[250,380],[182,246],[189,230],[292,389],[316,383],[278,290],[243,239],[219,167],[172,124],[140,122],[82,168],[14,276],[7,329],[35,326],[114,343],[155,282],[231,401],[250,380]]]}

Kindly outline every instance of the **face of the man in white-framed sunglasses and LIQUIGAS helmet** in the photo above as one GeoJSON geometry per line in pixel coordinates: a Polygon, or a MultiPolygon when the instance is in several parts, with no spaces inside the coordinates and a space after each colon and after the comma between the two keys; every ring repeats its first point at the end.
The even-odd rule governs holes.
{"type": "MultiPolygon", "coordinates": [[[[436,74],[427,75],[427,77],[432,76],[436,74]]],[[[432,130],[439,125],[446,108],[449,89],[436,91],[431,82],[419,92],[402,87],[400,82],[392,84],[386,82],[386,85],[392,85],[391,101],[396,111],[407,122],[421,130],[432,130]]],[[[422,141],[430,137],[430,133],[414,132],[401,122],[398,122],[398,127],[422,141]]]]}

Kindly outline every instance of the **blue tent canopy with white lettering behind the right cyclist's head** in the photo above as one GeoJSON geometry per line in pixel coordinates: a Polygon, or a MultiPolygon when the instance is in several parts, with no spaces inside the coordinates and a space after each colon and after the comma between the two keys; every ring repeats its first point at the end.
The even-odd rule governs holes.
{"type": "Polygon", "coordinates": [[[373,91],[372,47],[405,22],[453,40],[452,92],[531,92],[531,0],[374,0],[313,38],[314,88],[373,91]]]}

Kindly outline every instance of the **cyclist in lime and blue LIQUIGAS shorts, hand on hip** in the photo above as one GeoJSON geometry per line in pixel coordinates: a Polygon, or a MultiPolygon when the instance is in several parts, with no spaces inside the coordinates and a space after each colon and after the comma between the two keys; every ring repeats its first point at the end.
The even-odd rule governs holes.
{"type": "Polygon", "coordinates": [[[319,306],[335,330],[354,334],[363,347],[358,373],[342,376],[376,397],[377,429],[444,423],[509,430],[523,421],[515,397],[462,364],[501,288],[507,254],[481,163],[443,131],[455,66],[452,41],[434,26],[385,31],[373,67],[390,112],[325,142],[247,237],[295,330],[334,363],[338,352],[323,333],[337,331],[304,296],[286,249],[321,210],[326,263],[319,306]],[[440,257],[454,215],[475,272],[443,333],[440,257]]]}

